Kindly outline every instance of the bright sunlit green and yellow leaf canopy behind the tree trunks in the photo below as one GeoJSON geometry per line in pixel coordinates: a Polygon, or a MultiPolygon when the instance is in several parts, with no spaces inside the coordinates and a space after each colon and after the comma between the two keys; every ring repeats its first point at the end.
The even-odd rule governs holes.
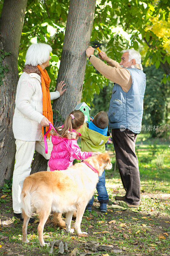
{"type": "MultiPolygon", "coordinates": [[[[0,11],[3,2],[0,2],[0,11]]],[[[64,31],[69,1],[28,0],[22,36],[19,47],[18,69],[24,68],[26,50],[32,43],[47,42],[52,46],[51,65],[47,71],[51,78],[50,90],[56,85],[56,78],[63,48],[64,31]]],[[[101,49],[108,56],[119,60],[122,49],[134,48],[142,53],[144,63],[160,65],[170,63],[169,56],[169,7],[167,0],[101,0],[97,1],[91,36],[91,45],[102,44],[101,49]]],[[[94,54],[98,54],[95,50],[94,54]]],[[[166,84],[170,77],[162,77],[166,84]]],[[[64,77],[63,77],[64,80],[64,77]]],[[[82,101],[92,103],[93,95],[99,94],[108,80],[101,76],[87,61],[82,101]]]]}

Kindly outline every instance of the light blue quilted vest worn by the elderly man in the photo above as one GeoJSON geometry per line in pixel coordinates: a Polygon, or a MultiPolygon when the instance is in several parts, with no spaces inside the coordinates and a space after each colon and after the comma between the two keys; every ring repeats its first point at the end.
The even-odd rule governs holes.
{"type": "Polygon", "coordinates": [[[146,75],[137,68],[128,70],[132,77],[132,85],[128,92],[124,92],[119,84],[114,84],[108,111],[108,126],[110,129],[129,129],[139,133],[142,125],[146,75]]]}

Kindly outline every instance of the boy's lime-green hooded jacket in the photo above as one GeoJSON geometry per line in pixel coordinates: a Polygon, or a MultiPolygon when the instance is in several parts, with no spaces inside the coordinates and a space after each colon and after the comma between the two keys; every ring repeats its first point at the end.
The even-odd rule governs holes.
{"type": "Polygon", "coordinates": [[[99,132],[93,131],[84,124],[77,132],[81,133],[81,151],[101,152],[105,153],[105,143],[110,137],[110,133],[107,132],[108,136],[104,136],[99,132]]]}

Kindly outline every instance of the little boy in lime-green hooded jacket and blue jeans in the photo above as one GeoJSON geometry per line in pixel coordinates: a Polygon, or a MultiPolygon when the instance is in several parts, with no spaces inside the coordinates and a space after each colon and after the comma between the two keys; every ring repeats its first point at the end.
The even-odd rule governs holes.
{"type": "MultiPolygon", "coordinates": [[[[108,122],[109,120],[107,113],[100,111],[90,122],[87,122],[78,130],[78,132],[81,133],[80,138],[82,151],[99,151],[101,153],[105,153],[105,143],[110,137],[110,133],[108,132],[108,122]]],[[[107,202],[109,201],[105,183],[106,181],[104,171],[102,176],[99,177],[99,182],[96,186],[101,212],[107,212],[107,202]]],[[[93,201],[94,196],[87,204],[87,209],[89,212],[92,211],[93,201]]]]}

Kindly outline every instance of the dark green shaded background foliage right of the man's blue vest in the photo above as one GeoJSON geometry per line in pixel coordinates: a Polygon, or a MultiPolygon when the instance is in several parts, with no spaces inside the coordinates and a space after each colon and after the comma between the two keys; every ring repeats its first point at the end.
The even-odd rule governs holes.
{"type": "MultiPolygon", "coordinates": [[[[163,71],[154,66],[145,67],[146,91],[144,95],[143,125],[160,126],[169,123],[168,102],[170,98],[169,85],[161,83],[163,71]]],[[[152,136],[156,136],[156,130],[152,129],[152,136]]]]}

